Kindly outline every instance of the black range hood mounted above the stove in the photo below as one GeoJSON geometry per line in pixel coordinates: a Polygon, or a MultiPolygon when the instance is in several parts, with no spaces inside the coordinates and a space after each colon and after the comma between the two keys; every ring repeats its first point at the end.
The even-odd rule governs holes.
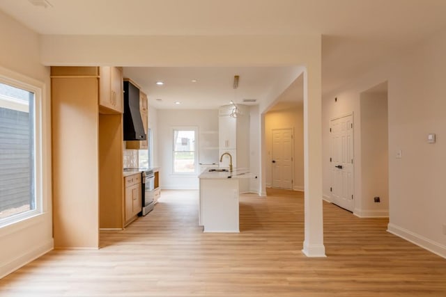
{"type": "Polygon", "coordinates": [[[145,141],[147,136],[139,113],[139,88],[124,81],[124,141],[145,141]]]}

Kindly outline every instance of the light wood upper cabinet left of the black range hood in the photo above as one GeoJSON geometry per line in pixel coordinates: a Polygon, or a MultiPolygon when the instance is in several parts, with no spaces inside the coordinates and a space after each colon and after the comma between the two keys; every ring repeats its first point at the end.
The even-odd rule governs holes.
{"type": "Polygon", "coordinates": [[[123,71],[121,67],[100,67],[100,113],[123,113],[123,71]]]}

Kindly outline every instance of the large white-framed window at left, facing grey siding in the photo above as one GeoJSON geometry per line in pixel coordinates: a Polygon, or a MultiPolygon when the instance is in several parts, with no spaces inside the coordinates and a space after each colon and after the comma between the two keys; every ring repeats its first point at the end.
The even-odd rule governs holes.
{"type": "Polygon", "coordinates": [[[0,77],[0,226],[41,210],[36,182],[39,96],[32,86],[0,77]]]}

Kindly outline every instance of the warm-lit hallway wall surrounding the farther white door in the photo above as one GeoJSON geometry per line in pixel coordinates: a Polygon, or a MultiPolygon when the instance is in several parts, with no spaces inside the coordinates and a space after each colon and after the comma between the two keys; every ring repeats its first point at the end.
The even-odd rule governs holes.
{"type": "Polygon", "coordinates": [[[304,147],[303,147],[303,106],[292,109],[270,111],[265,116],[265,134],[268,161],[266,162],[266,185],[272,186],[272,129],[293,129],[294,170],[293,189],[304,191],[304,147]]]}

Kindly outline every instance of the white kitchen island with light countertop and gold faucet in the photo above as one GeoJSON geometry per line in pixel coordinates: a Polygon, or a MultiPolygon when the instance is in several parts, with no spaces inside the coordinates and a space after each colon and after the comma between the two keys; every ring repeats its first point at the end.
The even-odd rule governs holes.
{"type": "Polygon", "coordinates": [[[219,172],[207,168],[200,179],[199,225],[203,232],[240,232],[238,227],[238,194],[240,179],[254,178],[245,168],[219,172]]]}

